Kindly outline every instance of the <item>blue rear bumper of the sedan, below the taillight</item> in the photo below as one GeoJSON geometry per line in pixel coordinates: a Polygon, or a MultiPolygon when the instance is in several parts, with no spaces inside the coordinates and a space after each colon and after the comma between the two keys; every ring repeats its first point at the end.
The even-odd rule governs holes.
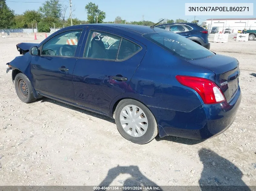
{"type": "Polygon", "coordinates": [[[157,118],[159,136],[177,136],[191,139],[208,139],[228,129],[235,119],[241,102],[238,88],[230,102],[202,104],[190,112],[150,107],[157,118]]]}

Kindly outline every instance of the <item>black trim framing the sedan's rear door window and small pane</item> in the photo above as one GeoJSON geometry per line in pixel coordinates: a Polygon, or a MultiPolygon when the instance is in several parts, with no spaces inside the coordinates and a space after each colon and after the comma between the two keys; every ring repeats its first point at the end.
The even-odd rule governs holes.
{"type": "Polygon", "coordinates": [[[123,62],[123,61],[125,61],[125,60],[131,58],[131,57],[134,56],[135,54],[139,53],[142,49],[143,49],[142,46],[140,46],[138,43],[135,43],[134,41],[131,41],[131,40],[125,38],[125,37],[122,37],[122,36],[120,36],[120,35],[117,35],[117,34],[114,34],[114,33],[111,33],[111,32],[106,32],[106,31],[103,31],[103,30],[97,30],[97,29],[94,28],[94,29],[90,29],[90,30],[88,31],[88,36],[87,36],[87,39],[86,39],[86,43],[85,43],[85,48],[84,48],[83,54],[82,54],[82,56],[79,55],[78,58],[82,58],[82,59],[98,59],[98,60],[106,60],[106,61],[113,61],[113,62],[123,62]],[[116,55],[116,59],[99,59],[99,58],[88,58],[88,57],[84,57],[85,51],[86,51],[86,47],[87,47],[87,43],[88,43],[88,39],[89,39],[89,35],[90,35],[91,31],[108,33],[108,34],[112,34],[112,35],[115,35],[115,36],[117,36],[117,37],[120,37],[121,40],[120,40],[120,44],[119,44],[119,46],[118,46],[118,53],[119,53],[119,49],[120,49],[120,45],[121,45],[122,39],[128,40],[128,41],[130,41],[130,42],[136,44],[137,46],[140,47],[140,49],[137,50],[135,53],[131,54],[130,56],[126,57],[125,59],[122,59],[122,60],[118,60],[118,59],[117,59],[118,53],[117,53],[117,55],[116,55]]]}

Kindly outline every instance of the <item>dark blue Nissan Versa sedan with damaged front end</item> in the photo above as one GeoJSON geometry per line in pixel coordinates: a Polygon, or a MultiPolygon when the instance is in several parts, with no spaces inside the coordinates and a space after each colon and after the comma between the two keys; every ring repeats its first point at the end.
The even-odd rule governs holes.
{"type": "Polygon", "coordinates": [[[137,144],[216,136],[241,101],[237,59],[157,27],[77,25],[17,49],[7,72],[21,101],[48,97],[112,117],[137,144]]]}

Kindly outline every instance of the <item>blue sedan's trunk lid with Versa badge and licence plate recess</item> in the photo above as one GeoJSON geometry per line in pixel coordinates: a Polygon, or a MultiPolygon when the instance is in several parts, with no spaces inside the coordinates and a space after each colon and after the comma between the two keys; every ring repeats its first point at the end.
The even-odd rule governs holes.
{"type": "Polygon", "coordinates": [[[238,89],[239,84],[239,63],[237,59],[214,55],[205,59],[188,61],[191,64],[210,69],[215,73],[215,83],[223,92],[227,101],[229,101],[238,89]]]}

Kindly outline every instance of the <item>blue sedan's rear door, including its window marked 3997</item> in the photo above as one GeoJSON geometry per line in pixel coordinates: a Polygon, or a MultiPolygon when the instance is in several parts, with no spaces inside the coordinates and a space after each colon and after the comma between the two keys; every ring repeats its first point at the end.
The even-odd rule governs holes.
{"type": "Polygon", "coordinates": [[[146,47],[112,31],[91,28],[86,33],[87,43],[73,72],[76,101],[108,113],[111,101],[132,89],[129,83],[146,47]]]}

